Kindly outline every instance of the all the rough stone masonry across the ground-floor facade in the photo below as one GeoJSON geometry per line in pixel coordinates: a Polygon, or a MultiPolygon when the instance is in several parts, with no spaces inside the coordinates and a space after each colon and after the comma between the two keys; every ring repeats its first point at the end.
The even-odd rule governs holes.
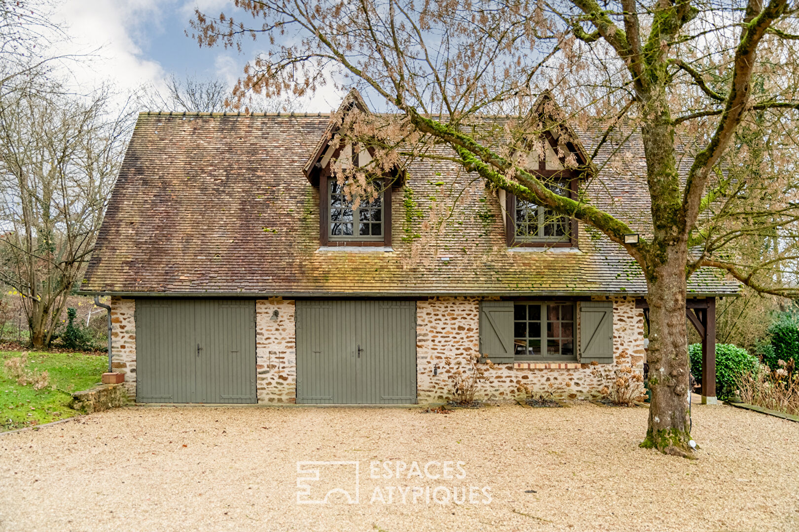
{"type": "MultiPolygon", "coordinates": [[[[600,300],[602,298],[594,298],[600,300]]],[[[614,363],[497,365],[484,367],[479,398],[512,400],[525,384],[533,392],[551,392],[561,398],[598,396],[610,386],[616,371],[630,366],[643,372],[643,311],[634,298],[613,301],[614,363]]],[[[283,298],[259,299],[256,305],[256,382],[259,403],[296,402],[295,305],[283,298]]],[[[579,303],[578,303],[579,305],[579,303]]],[[[125,388],[136,393],[136,304],[133,299],[111,299],[113,368],[125,373],[125,388]]],[[[579,306],[578,312],[579,316],[579,306]]],[[[479,298],[429,298],[416,301],[417,400],[440,403],[451,396],[452,376],[470,366],[479,355],[479,298]],[[437,369],[437,371],[435,371],[437,369]],[[437,374],[434,374],[437,373],[437,374]]],[[[579,337],[579,321],[576,336],[579,337]]]]}

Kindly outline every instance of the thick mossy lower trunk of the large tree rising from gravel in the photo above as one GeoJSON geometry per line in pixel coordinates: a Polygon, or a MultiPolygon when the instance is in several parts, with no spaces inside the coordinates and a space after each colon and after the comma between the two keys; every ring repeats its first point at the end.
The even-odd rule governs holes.
{"type": "Polygon", "coordinates": [[[642,447],[688,456],[688,343],[686,331],[686,249],[666,249],[666,260],[654,268],[646,300],[650,306],[649,428],[642,447]]]}

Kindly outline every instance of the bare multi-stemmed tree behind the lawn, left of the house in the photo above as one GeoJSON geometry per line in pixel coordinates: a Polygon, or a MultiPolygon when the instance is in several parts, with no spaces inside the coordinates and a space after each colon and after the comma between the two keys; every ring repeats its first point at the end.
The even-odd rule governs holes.
{"type": "Polygon", "coordinates": [[[108,93],[58,92],[0,100],[0,280],[22,294],[37,348],[85,270],[133,124],[108,93]]]}

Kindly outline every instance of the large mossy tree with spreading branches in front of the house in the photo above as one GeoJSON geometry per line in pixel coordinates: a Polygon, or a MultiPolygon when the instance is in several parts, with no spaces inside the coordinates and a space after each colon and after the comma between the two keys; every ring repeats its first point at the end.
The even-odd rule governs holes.
{"type": "Polygon", "coordinates": [[[626,250],[646,278],[650,305],[652,406],[642,445],[690,453],[687,279],[710,267],[761,292],[799,295],[779,275],[795,270],[799,255],[792,114],[799,108],[797,6],[788,0],[234,3],[252,22],[197,10],[191,24],[201,45],[235,47],[243,38],[264,37],[267,52],[245,67],[233,89],[237,101],[253,91],[303,95],[340,76],[393,111],[360,120],[369,126],[353,120],[342,132],[364,142],[371,136],[376,160],[454,162],[492,187],[573,216],[626,250]],[[531,113],[545,93],[549,103],[531,113]],[[479,113],[496,112],[517,120],[507,128],[474,127],[479,113]],[[603,211],[585,195],[559,195],[528,171],[519,154],[547,130],[566,132],[560,127],[566,122],[599,131],[594,157],[614,143],[604,168],[576,165],[588,182],[623,166],[619,150],[638,132],[648,216],[603,211]],[[750,150],[737,136],[741,124],[769,145],[750,150]],[[442,145],[450,152],[431,148],[442,145]],[[640,231],[637,243],[625,242],[624,234],[640,231]],[[777,242],[769,256],[745,252],[769,237],[777,242]]]}

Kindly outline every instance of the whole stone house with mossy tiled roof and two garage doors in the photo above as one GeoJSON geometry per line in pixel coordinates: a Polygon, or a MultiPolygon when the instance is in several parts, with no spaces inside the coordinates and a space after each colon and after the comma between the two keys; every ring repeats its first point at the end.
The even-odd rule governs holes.
{"type": "MultiPolygon", "coordinates": [[[[440,403],[472,357],[495,363],[479,382],[493,400],[521,384],[585,398],[643,371],[646,282],[620,246],[447,161],[415,160],[353,206],[331,165],[371,155],[331,138],[355,105],[141,113],[81,286],[111,296],[113,367],[137,402],[440,403]]],[[[556,155],[560,134],[531,170],[646,234],[640,138],[590,160],[598,136],[570,137],[601,168],[586,179],[556,155]]],[[[740,288],[713,270],[689,288],[712,364],[716,298],[740,288]]]]}

